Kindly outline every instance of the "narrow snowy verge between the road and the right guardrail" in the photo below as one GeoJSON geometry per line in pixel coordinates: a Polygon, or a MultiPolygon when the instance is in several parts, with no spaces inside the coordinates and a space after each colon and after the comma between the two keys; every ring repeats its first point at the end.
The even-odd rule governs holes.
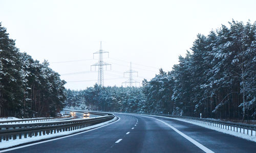
{"type": "MultiPolygon", "coordinates": [[[[138,114],[134,114],[134,115],[138,115],[138,114]]],[[[143,115],[143,114],[139,114],[139,115],[143,115]]],[[[209,129],[212,129],[212,130],[217,130],[218,132],[221,132],[221,133],[224,133],[224,134],[228,134],[228,135],[232,135],[232,136],[236,136],[236,137],[239,137],[239,138],[243,138],[243,139],[246,139],[246,140],[256,142],[255,132],[253,132],[252,136],[250,136],[250,135],[247,135],[247,134],[243,134],[243,133],[240,133],[240,132],[235,132],[235,131],[220,128],[220,127],[215,127],[215,126],[210,126],[210,125],[206,125],[206,124],[202,124],[202,123],[189,121],[188,119],[171,118],[171,117],[164,117],[164,116],[157,116],[157,115],[145,115],[145,116],[155,116],[155,117],[162,117],[162,118],[174,119],[174,120],[178,120],[178,121],[182,121],[182,122],[187,122],[187,123],[199,125],[199,126],[202,126],[202,127],[205,127],[205,128],[209,128],[209,129]]]]}

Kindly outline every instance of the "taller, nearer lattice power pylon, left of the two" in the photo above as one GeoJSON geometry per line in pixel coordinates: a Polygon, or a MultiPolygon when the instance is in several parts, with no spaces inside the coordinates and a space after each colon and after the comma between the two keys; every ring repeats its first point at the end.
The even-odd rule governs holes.
{"type": "Polygon", "coordinates": [[[98,84],[102,86],[104,85],[103,66],[110,65],[110,69],[111,69],[110,63],[103,62],[103,53],[108,53],[108,56],[109,56],[109,52],[102,50],[101,41],[100,41],[99,51],[93,53],[93,58],[94,58],[94,54],[99,54],[99,61],[91,65],[91,71],[92,71],[92,67],[95,67],[95,71],[96,71],[96,67],[98,66],[98,84]]]}

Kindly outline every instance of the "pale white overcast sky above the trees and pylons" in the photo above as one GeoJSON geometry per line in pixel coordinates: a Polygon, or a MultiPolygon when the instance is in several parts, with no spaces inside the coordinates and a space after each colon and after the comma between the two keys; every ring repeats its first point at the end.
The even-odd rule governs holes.
{"type": "MultiPolygon", "coordinates": [[[[172,70],[197,34],[238,21],[256,20],[256,1],[12,1],[0,0],[0,22],[16,47],[50,62],[66,88],[86,89],[97,82],[93,53],[109,51],[104,85],[120,86],[123,72],[137,81],[172,70]],[[71,62],[72,61],[72,62],[71,62]],[[95,71],[95,69],[92,69],[95,71]],[[77,82],[76,82],[77,81],[77,82]]],[[[105,70],[105,69],[104,69],[105,70]]]]}

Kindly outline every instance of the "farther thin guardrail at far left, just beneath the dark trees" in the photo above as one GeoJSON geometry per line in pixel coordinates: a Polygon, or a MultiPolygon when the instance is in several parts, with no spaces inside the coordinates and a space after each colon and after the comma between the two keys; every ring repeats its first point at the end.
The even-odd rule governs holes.
{"type": "Polygon", "coordinates": [[[4,123],[29,123],[29,122],[46,122],[46,121],[56,121],[60,119],[66,119],[71,117],[69,116],[61,116],[61,117],[52,117],[52,118],[38,118],[38,119],[20,119],[20,120],[9,120],[9,121],[0,121],[0,125],[4,123]]]}

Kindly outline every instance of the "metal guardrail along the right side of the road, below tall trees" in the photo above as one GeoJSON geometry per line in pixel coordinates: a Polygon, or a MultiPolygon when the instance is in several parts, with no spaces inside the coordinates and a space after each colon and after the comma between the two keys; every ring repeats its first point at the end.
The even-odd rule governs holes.
{"type": "MultiPolygon", "coordinates": [[[[132,112],[122,112],[122,113],[132,113],[132,112]]],[[[133,114],[141,114],[141,113],[133,113],[133,114]]],[[[210,125],[210,126],[215,126],[215,127],[219,127],[219,128],[224,128],[224,129],[227,129],[227,130],[232,130],[234,132],[240,132],[240,133],[243,133],[243,134],[247,133],[247,135],[251,135],[251,136],[253,135],[253,131],[254,131],[255,135],[253,135],[253,136],[256,137],[256,125],[226,122],[226,121],[218,121],[218,120],[188,117],[188,116],[179,116],[179,115],[152,114],[152,113],[143,113],[143,114],[188,119],[188,120],[193,121],[193,122],[206,124],[206,125],[210,125]]]]}

